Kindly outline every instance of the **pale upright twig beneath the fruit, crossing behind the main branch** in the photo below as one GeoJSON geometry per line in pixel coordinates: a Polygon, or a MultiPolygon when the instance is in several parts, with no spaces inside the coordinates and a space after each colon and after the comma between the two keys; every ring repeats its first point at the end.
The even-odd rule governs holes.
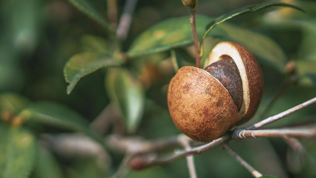
{"type": "MultiPolygon", "coordinates": [[[[186,151],[191,149],[190,140],[188,140],[187,136],[179,135],[178,139],[179,139],[179,142],[184,146],[186,151]]],[[[197,178],[193,155],[186,156],[186,163],[189,169],[190,177],[197,178]]]]}

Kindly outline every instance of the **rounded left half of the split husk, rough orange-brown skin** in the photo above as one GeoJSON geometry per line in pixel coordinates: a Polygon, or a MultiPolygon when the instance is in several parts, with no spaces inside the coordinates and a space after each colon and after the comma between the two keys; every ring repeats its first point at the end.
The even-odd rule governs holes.
{"type": "Polygon", "coordinates": [[[167,101],[176,127],[198,141],[217,139],[238,120],[226,88],[200,68],[180,68],[168,86],[167,101]]]}

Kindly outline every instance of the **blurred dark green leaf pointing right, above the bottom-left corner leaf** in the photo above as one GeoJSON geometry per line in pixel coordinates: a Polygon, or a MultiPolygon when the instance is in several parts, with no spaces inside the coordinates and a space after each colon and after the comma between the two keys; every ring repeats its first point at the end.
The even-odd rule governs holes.
{"type": "Polygon", "coordinates": [[[36,102],[28,105],[15,119],[21,119],[22,122],[30,125],[51,126],[82,132],[104,145],[102,139],[88,128],[88,122],[80,114],[63,104],[48,101],[36,102]]]}

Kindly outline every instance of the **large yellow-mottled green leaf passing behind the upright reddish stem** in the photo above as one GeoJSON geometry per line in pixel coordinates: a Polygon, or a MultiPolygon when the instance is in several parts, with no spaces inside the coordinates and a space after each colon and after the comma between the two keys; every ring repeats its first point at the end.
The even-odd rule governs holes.
{"type": "MultiPolygon", "coordinates": [[[[196,16],[198,39],[201,39],[205,26],[210,20],[211,19],[206,16],[196,16]]],[[[214,29],[213,32],[213,36],[224,35],[220,28],[214,29]]],[[[131,44],[128,50],[128,56],[147,55],[191,43],[193,43],[193,36],[190,16],[170,18],[155,24],[141,33],[131,44]]]]}

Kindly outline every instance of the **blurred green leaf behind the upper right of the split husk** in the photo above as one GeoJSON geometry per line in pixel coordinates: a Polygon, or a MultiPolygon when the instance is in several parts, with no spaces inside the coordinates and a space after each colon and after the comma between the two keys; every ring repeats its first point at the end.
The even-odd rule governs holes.
{"type": "Polygon", "coordinates": [[[287,58],[274,40],[260,33],[228,23],[220,24],[219,27],[226,32],[226,38],[243,45],[252,54],[262,59],[264,63],[283,72],[287,58]]]}

